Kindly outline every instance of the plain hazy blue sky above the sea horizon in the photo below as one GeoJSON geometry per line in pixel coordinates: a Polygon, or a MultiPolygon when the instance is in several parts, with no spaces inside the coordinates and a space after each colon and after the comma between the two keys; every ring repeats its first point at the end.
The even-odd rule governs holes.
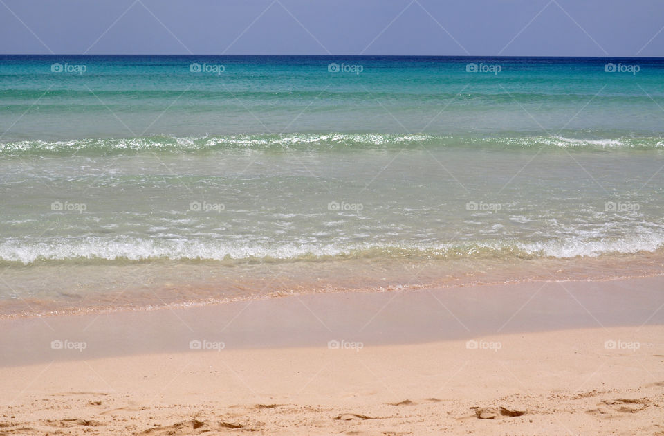
{"type": "Polygon", "coordinates": [[[0,0],[0,53],[664,57],[664,1],[0,0]]]}

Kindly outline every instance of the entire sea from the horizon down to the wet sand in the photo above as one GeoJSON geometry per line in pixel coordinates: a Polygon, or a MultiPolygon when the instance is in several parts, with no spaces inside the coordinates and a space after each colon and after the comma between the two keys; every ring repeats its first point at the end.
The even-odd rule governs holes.
{"type": "Polygon", "coordinates": [[[664,271],[664,60],[0,56],[0,316],[664,271]]]}

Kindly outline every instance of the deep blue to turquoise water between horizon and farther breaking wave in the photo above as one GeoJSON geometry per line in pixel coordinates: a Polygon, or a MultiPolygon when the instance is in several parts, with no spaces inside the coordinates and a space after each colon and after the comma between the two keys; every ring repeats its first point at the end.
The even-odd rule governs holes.
{"type": "Polygon", "coordinates": [[[27,111],[3,142],[293,132],[520,137],[540,136],[542,128],[547,135],[615,139],[658,137],[662,128],[661,60],[95,56],[0,62],[3,127],[27,111]],[[609,61],[640,70],[607,73],[609,61]],[[331,73],[333,62],[360,65],[362,72],[331,73]],[[468,73],[469,63],[501,71],[468,73]],[[53,64],[85,71],[53,73],[53,64]],[[192,73],[192,64],[221,65],[223,72],[192,73]]]}

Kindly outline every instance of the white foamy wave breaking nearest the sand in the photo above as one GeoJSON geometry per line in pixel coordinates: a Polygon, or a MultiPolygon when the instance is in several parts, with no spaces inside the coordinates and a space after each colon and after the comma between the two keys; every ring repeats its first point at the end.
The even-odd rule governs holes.
{"type": "Polygon", "coordinates": [[[527,255],[571,258],[596,257],[610,253],[637,253],[656,251],[664,246],[664,235],[647,233],[624,239],[551,240],[546,242],[479,242],[468,244],[403,244],[384,246],[356,244],[232,244],[209,240],[174,239],[52,239],[48,242],[9,241],[0,244],[0,260],[32,264],[37,261],[62,260],[247,260],[274,259],[295,260],[298,257],[347,256],[347,255],[397,255],[412,256],[430,254],[436,256],[527,255]]]}

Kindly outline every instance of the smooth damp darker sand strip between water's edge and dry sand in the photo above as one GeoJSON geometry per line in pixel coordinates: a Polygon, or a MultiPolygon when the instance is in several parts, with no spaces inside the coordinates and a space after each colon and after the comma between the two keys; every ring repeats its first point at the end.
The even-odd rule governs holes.
{"type": "Polygon", "coordinates": [[[664,325],[661,289],[664,275],[311,293],[221,305],[12,318],[0,320],[0,349],[5,354],[1,365],[185,352],[191,340],[223,342],[226,349],[320,347],[329,340],[395,345],[486,334],[664,325]],[[88,345],[84,352],[71,353],[51,349],[52,340],[88,345]]]}

